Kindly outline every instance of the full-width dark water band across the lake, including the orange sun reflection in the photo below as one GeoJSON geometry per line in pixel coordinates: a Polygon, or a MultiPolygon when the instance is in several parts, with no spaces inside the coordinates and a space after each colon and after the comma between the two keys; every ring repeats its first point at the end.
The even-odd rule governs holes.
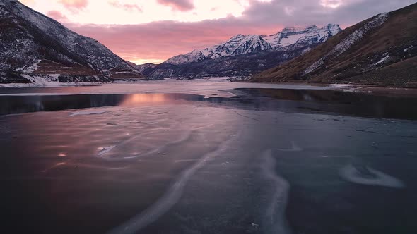
{"type": "Polygon", "coordinates": [[[372,118],[417,119],[416,97],[385,97],[333,90],[235,89],[235,97],[196,94],[76,94],[1,96],[0,115],[102,106],[141,106],[182,101],[258,111],[329,113],[372,118]]]}

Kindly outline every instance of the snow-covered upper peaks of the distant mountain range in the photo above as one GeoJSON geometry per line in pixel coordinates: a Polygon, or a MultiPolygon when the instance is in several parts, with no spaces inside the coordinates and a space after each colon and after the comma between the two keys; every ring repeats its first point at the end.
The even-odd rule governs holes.
{"type": "Polygon", "coordinates": [[[308,27],[286,27],[274,35],[235,35],[227,42],[206,49],[195,49],[188,54],[169,58],[164,63],[182,64],[199,62],[205,59],[224,58],[249,54],[269,49],[286,50],[295,46],[325,42],[329,37],[341,31],[339,25],[329,24],[325,27],[311,25],[308,27]]]}

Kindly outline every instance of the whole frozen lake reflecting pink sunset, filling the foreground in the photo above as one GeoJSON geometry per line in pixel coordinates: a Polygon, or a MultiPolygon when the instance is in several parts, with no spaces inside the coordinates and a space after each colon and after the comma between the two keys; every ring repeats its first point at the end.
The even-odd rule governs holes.
{"type": "Polygon", "coordinates": [[[223,80],[0,92],[4,230],[417,233],[415,98],[223,80]]]}

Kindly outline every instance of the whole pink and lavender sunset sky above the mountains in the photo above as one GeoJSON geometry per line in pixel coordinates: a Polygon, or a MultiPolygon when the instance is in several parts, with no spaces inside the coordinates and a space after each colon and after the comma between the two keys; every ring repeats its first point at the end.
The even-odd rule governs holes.
{"type": "Polygon", "coordinates": [[[20,0],[134,62],[161,63],[233,35],[354,25],[411,0],[20,0]]]}

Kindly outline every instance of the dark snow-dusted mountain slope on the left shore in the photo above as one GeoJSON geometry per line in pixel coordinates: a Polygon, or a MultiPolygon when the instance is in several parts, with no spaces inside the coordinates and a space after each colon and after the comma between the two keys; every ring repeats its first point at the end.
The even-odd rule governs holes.
{"type": "Polygon", "coordinates": [[[0,82],[144,78],[97,40],[83,37],[16,0],[0,1],[0,82]]]}

